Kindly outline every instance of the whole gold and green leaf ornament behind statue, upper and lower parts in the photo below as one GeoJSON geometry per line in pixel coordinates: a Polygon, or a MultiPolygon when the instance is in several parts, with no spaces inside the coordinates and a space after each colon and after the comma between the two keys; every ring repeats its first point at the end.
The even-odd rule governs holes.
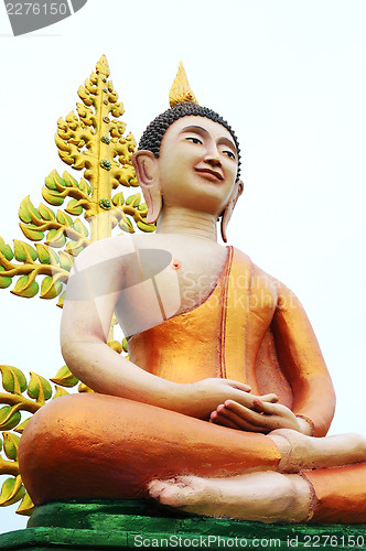
{"type": "MultiPolygon", "coordinates": [[[[75,257],[90,242],[109,237],[116,228],[134,233],[154,231],[148,224],[148,208],[140,193],[125,198],[120,185],[137,187],[131,155],[136,140],[125,136],[126,125],[120,120],[123,105],[118,101],[109,77],[106,56],[101,56],[95,72],[78,89],[82,102],[76,112],[65,120],[60,118],[55,137],[61,159],[72,169],[83,172],[77,181],[68,172],[61,176],[55,170],[46,176],[42,195],[47,203],[35,207],[25,197],[20,205],[20,227],[25,242],[14,239],[13,247],[0,237],[0,289],[10,288],[18,296],[31,299],[58,298],[63,305],[65,284],[75,257]],[[61,208],[63,207],[63,209],[61,208]],[[84,222],[80,217],[84,215],[84,222]],[[35,245],[34,245],[35,244],[35,245]]],[[[108,345],[118,354],[127,352],[126,339],[114,339],[112,326],[108,345]]],[[[20,515],[31,515],[33,504],[22,484],[18,464],[19,436],[30,417],[51,399],[58,399],[75,388],[93,392],[62,367],[47,381],[35,372],[25,375],[17,367],[0,365],[0,475],[9,475],[0,489],[0,506],[21,501],[20,515]],[[13,432],[12,432],[13,431],[13,432]]]]}

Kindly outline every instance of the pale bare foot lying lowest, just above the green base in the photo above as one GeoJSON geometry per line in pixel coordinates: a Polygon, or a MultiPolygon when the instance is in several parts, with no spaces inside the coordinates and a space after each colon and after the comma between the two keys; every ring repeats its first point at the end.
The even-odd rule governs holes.
{"type": "Polygon", "coordinates": [[[186,512],[260,522],[305,522],[312,503],[311,488],[301,476],[269,471],[232,478],[152,480],[148,493],[186,512]]]}

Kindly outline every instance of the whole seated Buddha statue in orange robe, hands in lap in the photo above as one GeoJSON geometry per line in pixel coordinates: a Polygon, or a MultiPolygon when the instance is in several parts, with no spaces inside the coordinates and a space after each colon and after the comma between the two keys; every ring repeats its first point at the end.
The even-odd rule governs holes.
{"type": "Polygon", "coordinates": [[[366,441],[326,436],[334,390],[301,303],[217,242],[243,191],[238,140],[177,88],[133,154],[157,233],[75,261],[62,349],[95,392],[30,421],[24,484],[36,505],[149,497],[204,516],[365,522],[366,441]],[[114,312],[128,358],[106,344],[114,312]]]}

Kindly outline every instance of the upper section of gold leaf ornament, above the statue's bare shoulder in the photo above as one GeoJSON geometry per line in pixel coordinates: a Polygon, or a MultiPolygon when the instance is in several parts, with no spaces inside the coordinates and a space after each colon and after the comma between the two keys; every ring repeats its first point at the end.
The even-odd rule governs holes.
{"type": "Polygon", "coordinates": [[[136,227],[154,231],[155,226],[146,222],[148,208],[140,194],[126,201],[121,192],[112,196],[119,185],[139,184],[131,162],[136,140],[131,133],[125,136],[126,125],[119,120],[123,105],[108,77],[108,62],[103,55],[78,89],[83,102],[76,104],[76,112],[58,119],[58,154],[66,164],[83,171],[84,177],[77,181],[68,172],[60,176],[55,170],[46,176],[43,198],[56,208],[66,202],[63,210],[43,203],[36,208],[30,196],[22,201],[20,227],[36,245],[34,248],[14,240],[12,249],[0,237],[0,289],[15,281],[13,294],[31,299],[41,291],[41,299],[60,296],[57,305],[62,306],[74,258],[85,247],[109,237],[115,227],[127,233],[134,233],[136,227]],[[79,219],[83,214],[88,227],[79,219]]]}

